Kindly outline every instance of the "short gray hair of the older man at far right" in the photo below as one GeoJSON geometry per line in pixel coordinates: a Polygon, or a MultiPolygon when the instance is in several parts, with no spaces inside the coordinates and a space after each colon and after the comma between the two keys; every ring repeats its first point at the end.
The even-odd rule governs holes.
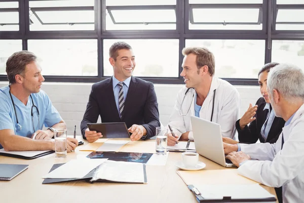
{"type": "Polygon", "coordinates": [[[304,73],[296,65],[282,63],[271,69],[267,79],[268,92],[276,89],[284,98],[304,100],[304,73]]]}

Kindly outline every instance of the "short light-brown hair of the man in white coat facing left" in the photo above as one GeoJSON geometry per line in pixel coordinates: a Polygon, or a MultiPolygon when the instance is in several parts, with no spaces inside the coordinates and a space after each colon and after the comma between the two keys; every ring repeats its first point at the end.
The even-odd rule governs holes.
{"type": "Polygon", "coordinates": [[[215,59],[211,51],[205,47],[185,47],[182,49],[182,55],[195,54],[196,64],[198,67],[198,73],[202,66],[208,66],[208,72],[210,76],[214,75],[215,72],[215,59]]]}

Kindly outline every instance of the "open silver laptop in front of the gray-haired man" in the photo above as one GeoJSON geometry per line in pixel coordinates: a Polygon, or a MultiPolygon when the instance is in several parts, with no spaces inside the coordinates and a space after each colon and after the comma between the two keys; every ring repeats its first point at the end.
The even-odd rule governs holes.
{"type": "Polygon", "coordinates": [[[235,166],[225,159],[219,124],[195,116],[191,116],[191,124],[197,153],[222,166],[235,166]]]}

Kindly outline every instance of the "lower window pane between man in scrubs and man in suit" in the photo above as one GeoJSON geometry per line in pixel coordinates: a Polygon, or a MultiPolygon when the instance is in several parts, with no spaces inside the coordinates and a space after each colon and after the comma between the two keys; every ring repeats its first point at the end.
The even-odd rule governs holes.
{"type": "Polygon", "coordinates": [[[43,75],[97,76],[97,40],[28,40],[43,75]]]}

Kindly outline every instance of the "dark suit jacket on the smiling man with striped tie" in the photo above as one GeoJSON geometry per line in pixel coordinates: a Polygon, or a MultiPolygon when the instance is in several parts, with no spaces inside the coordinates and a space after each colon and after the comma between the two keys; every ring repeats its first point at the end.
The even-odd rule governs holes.
{"type": "Polygon", "coordinates": [[[128,128],[138,124],[146,128],[146,138],[155,136],[160,121],[153,83],[132,76],[125,99],[124,111],[120,118],[113,93],[112,77],[93,84],[87,110],[81,122],[84,139],[87,123],[96,123],[99,115],[103,123],[125,122],[128,128]]]}

